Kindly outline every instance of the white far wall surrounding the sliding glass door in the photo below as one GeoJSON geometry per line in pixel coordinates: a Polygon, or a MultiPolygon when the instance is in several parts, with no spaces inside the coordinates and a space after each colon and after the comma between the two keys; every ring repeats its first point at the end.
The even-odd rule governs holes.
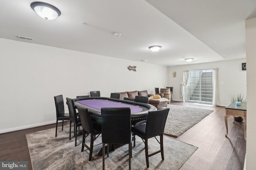
{"type": "Polygon", "coordinates": [[[242,70],[242,63],[246,63],[246,58],[168,67],[168,86],[173,86],[174,88],[173,100],[183,101],[183,98],[180,98],[180,84],[183,82],[183,70],[217,67],[219,68],[220,106],[227,106],[230,103],[231,95],[241,93],[246,96],[246,70],[242,70]],[[172,72],[176,72],[176,77],[172,76],[172,72]],[[221,82],[224,84],[221,84],[221,82]]]}

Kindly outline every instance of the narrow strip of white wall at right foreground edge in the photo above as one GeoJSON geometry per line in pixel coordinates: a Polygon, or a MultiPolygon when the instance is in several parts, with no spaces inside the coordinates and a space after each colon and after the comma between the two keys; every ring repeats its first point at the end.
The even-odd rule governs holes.
{"type": "Polygon", "coordinates": [[[246,60],[247,60],[247,140],[246,140],[246,169],[256,167],[256,18],[245,21],[246,27],[246,60]]]}

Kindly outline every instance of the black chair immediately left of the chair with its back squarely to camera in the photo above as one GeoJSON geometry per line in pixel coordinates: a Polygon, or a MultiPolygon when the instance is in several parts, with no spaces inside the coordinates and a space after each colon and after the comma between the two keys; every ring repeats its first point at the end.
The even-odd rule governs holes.
{"type": "Polygon", "coordinates": [[[101,124],[98,121],[92,121],[90,117],[90,111],[88,108],[82,109],[80,107],[77,108],[78,113],[80,115],[82,128],[83,128],[83,138],[82,138],[82,150],[84,151],[84,147],[86,147],[89,153],[89,161],[92,159],[92,150],[93,150],[93,143],[97,139],[97,137],[101,134],[101,124]],[[85,138],[90,134],[90,147],[86,145],[85,138]],[[96,137],[96,135],[98,135],[96,137]]]}

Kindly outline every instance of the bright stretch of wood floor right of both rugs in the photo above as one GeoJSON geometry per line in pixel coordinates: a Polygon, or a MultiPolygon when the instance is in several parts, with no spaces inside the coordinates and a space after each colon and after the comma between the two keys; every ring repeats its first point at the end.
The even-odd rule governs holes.
{"type": "MultiPolygon", "coordinates": [[[[198,107],[188,102],[173,104],[198,107]]],[[[214,112],[176,138],[198,147],[180,170],[242,170],[246,153],[244,121],[232,123],[233,116],[228,117],[228,136],[225,137],[224,107],[198,108],[214,112]]]]}

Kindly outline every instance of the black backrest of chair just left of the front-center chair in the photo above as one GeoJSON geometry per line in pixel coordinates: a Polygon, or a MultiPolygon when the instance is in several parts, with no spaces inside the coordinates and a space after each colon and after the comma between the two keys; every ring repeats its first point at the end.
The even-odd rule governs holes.
{"type": "Polygon", "coordinates": [[[90,111],[88,110],[88,108],[82,109],[78,107],[78,113],[80,116],[83,129],[88,133],[92,133],[93,125],[92,125],[92,119],[90,117],[90,111]]]}

